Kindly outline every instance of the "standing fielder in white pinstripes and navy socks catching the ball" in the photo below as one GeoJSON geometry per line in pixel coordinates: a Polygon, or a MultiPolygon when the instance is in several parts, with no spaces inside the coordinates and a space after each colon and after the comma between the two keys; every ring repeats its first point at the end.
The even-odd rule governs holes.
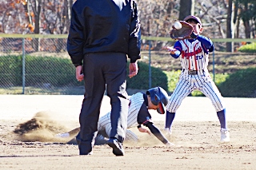
{"type": "Polygon", "coordinates": [[[165,130],[171,133],[171,125],[182,100],[194,90],[199,90],[212,101],[221,125],[221,141],[228,142],[230,141],[230,132],[226,125],[226,107],[223,104],[223,97],[207,69],[209,53],[214,51],[214,44],[210,38],[200,35],[203,30],[200,18],[189,15],[184,18],[184,21],[193,26],[195,38],[179,40],[175,42],[173,48],[167,47],[171,57],[180,58],[182,73],[174,93],[166,105],[165,130]]]}

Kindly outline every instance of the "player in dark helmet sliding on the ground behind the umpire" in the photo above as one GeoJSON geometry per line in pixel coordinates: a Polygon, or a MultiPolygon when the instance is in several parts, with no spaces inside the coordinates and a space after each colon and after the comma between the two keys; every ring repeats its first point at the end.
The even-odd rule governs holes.
{"type": "MultiPolygon", "coordinates": [[[[127,117],[127,128],[137,125],[139,132],[152,132],[154,136],[161,140],[166,146],[172,146],[162,132],[154,125],[148,109],[156,109],[158,113],[165,113],[165,105],[169,98],[168,94],[161,87],[155,87],[146,91],[146,93],[135,93],[130,97],[130,104],[127,117]],[[142,125],[150,129],[143,128],[142,125]]],[[[98,136],[95,138],[95,144],[107,144],[107,137],[110,136],[111,122],[110,113],[100,117],[98,121],[98,136]]],[[[70,132],[58,133],[58,137],[69,137],[70,133],[79,132],[80,128],[75,128],[70,132]]],[[[138,141],[138,136],[130,129],[126,130],[126,140],[138,141]]]]}

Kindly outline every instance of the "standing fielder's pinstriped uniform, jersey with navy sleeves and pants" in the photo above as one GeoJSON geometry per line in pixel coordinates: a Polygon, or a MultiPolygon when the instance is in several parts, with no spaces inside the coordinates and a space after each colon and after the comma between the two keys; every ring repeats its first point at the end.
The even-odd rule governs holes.
{"type": "Polygon", "coordinates": [[[225,109],[223,97],[207,69],[208,53],[214,50],[210,39],[199,35],[194,40],[185,39],[176,42],[174,48],[181,52],[181,55],[175,53],[171,56],[180,57],[182,73],[166,109],[170,113],[176,113],[182,100],[194,90],[199,90],[209,97],[217,112],[225,109]]]}

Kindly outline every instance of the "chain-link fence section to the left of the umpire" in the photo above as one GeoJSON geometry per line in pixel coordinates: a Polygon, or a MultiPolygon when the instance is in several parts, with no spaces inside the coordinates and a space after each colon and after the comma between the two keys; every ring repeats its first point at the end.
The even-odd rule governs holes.
{"type": "Polygon", "coordinates": [[[1,38],[0,93],[82,94],[66,38],[1,38]]]}

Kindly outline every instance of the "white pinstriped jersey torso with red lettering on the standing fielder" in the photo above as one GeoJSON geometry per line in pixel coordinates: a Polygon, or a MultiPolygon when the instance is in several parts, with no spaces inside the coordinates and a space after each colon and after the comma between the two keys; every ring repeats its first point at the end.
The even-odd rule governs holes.
{"type": "Polygon", "coordinates": [[[180,61],[182,69],[202,70],[207,69],[208,53],[202,49],[202,43],[197,40],[190,42],[188,39],[180,41],[182,45],[182,54],[180,61]]]}

